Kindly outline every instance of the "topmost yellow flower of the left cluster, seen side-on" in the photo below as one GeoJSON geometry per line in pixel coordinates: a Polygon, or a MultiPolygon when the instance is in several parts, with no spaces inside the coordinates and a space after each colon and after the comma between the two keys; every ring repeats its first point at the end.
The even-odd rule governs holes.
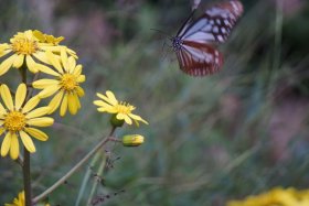
{"type": "Polygon", "coordinates": [[[32,30],[28,30],[17,33],[10,40],[10,44],[0,44],[0,57],[8,56],[7,59],[0,64],[0,76],[6,74],[11,67],[20,68],[24,63],[32,73],[38,73],[42,69],[41,67],[44,69],[46,66],[42,63],[51,65],[51,61],[45,55],[46,51],[60,54],[60,52],[64,50],[77,58],[74,51],[66,46],[57,45],[62,41],[62,36],[56,39],[52,35],[41,34],[44,40],[39,40],[33,34],[32,30]]]}

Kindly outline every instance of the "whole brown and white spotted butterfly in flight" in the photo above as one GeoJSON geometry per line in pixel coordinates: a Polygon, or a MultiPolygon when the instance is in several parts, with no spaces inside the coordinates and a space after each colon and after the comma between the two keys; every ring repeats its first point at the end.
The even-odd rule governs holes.
{"type": "Polygon", "coordinates": [[[223,1],[192,21],[194,11],[171,37],[172,47],[182,72],[191,76],[206,76],[221,69],[223,55],[213,45],[226,42],[243,13],[243,4],[238,0],[223,1]]]}

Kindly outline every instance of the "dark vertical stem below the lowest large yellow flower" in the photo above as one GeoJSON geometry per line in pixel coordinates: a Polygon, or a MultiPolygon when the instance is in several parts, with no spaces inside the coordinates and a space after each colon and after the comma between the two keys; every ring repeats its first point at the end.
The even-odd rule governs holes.
{"type": "Polygon", "coordinates": [[[23,185],[25,206],[31,206],[31,178],[30,178],[30,152],[23,148],[23,185]]]}

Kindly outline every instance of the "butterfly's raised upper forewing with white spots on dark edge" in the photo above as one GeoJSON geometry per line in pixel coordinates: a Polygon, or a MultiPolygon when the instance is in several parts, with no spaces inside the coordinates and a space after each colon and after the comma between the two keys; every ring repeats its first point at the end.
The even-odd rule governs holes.
{"type": "Polygon", "coordinates": [[[204,14],[190,25],[182,26],[178,33],[181,40],[200,43],[227,40],[233,26],[243,13],[243,6],[237,0],[222,2],[205,10],[204,14]]]}

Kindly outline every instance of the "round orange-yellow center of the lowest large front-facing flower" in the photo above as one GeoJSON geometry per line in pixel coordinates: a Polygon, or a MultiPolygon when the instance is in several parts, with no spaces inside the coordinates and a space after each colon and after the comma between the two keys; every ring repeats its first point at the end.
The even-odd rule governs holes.
{"type": "Polygon", "coordinates": [[[9,131],[21,131],[25,126],[25,117],[20,111],[11,111],[4,118],[4,128],[9,131]]]}

